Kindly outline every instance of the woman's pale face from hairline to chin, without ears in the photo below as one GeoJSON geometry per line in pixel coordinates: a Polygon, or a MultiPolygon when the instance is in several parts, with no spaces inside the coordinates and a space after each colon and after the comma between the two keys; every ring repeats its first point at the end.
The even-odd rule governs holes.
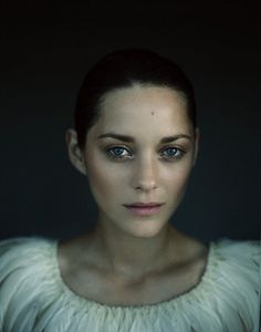
{"type": "Polygon", "coordinates": [[[107,93],[83,151],[98,222],[157,235],[184,196],[197,141],[178,92],[134,85],[107,93]]]}

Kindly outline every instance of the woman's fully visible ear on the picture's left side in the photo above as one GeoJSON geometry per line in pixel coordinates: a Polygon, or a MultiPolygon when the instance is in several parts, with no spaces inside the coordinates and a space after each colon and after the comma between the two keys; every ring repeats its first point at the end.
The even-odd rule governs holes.
{"type": "Polygon", "coordinates": [[[67,153],[71,163],[77,170],[86,175],[87,169],[83,156],[83,151],[79,146],[77,133],[74,129],[67,129],[65,141],[67,144],[67,153]]]}

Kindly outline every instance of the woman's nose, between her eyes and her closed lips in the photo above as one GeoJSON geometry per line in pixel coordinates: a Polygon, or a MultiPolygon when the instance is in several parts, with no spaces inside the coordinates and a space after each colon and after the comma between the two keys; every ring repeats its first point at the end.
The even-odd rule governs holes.
{"type": "Polygon", "coordinates": [[[143,191],[150,191],[158,187],[158,165],[152,157],[136,160],[133,187],[135,190],[143,191]]]}

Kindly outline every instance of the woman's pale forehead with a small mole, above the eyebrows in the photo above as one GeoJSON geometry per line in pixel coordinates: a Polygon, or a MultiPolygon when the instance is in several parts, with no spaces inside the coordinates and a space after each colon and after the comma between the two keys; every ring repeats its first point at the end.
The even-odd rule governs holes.
{"type": "Polygon", "coordinates": [[[163,86],[134,85],[104,95],[94,132],[129,135],[188,133],[191,124],[181,93],[163,86]]]}

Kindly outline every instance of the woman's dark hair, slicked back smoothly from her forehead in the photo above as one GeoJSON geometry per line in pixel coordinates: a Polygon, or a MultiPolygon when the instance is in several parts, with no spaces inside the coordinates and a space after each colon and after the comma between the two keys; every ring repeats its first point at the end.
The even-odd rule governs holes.
{"type": "Polygon", "coordinates": [[[84,147],[87,131],[98,118],[104,94],[135,83],[167,86],[184,94],[188,116],[196,127],[195,93],[182,70],[175,62],[148,50],[119,50],[105,55],[84,77],[75,110],[80,147],[84,147]]]}

